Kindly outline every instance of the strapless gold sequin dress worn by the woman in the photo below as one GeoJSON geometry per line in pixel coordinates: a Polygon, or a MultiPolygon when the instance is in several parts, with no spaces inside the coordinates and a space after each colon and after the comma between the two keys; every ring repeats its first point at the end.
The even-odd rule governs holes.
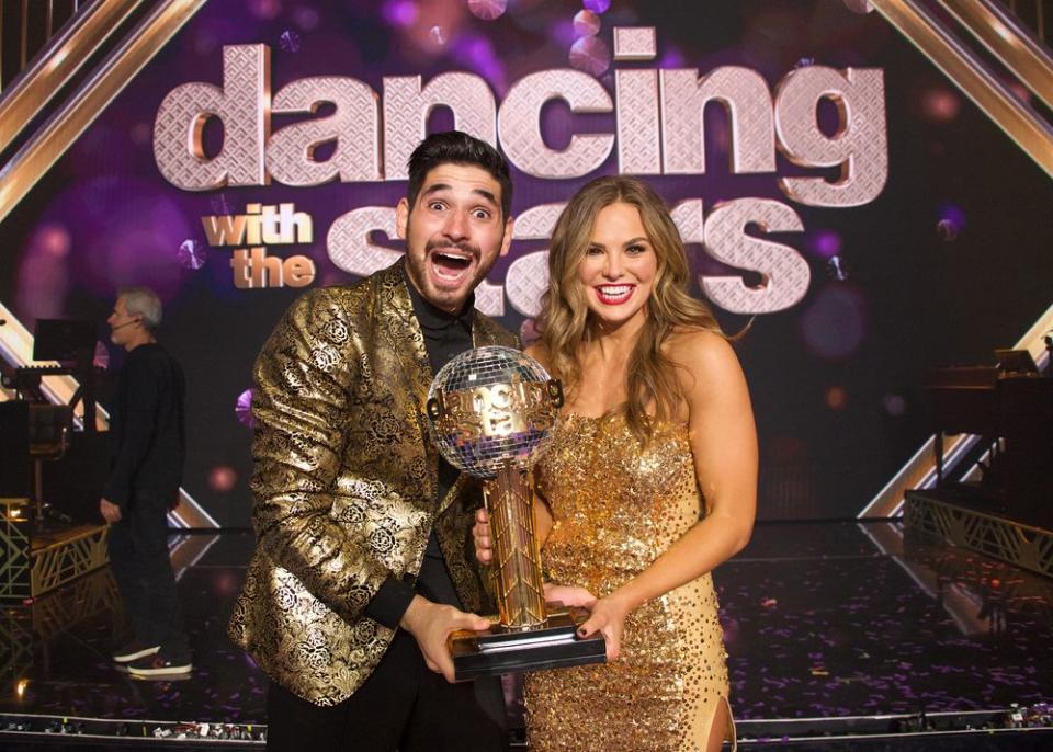
{"type": "MultiPolygon", "coordinates": [[[[642,449],[620,414],[566,415],[536,481],[555,520],[546,572],[597,596],[646,569],[702,514],[684,425],[659,425],[642,449]]],[[[530,750],[704,750],[727,702],[725,657],[703,574],[633,612],[616,661],[528,674],[530,750]]]]}

